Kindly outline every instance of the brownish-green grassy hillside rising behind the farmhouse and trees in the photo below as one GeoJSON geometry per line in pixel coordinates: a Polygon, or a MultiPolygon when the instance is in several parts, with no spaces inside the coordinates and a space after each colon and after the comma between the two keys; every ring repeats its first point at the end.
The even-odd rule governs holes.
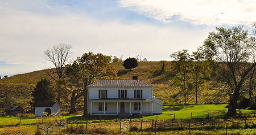
{"type": "MultiPolygon", "coordinates": [[[[183,97],[171,98],[171,95],[175,95],[179,92],[179,88],[176,88],[172,81],[170,81],[171,75],[171,62],[166,62],[165,73],[160,75],[158,71],[161,68],[160,62],[139,62],[138,67],[133,71],[127,71],[123,68],[122,63],[112,63],[114,68],[118,71],[118,79],[131,79],[132,76],[137,75],[140,80],[147,82],[154,86],[154,96],[163,101],[164,104],[180,103],[183,97]],[[177,101],[177,102],[175,102],[177,101]]],[[[52,69],[51,69],[52,70],[52,69]]],[[[17,100],[24,99],[22,104],[27,104],[31,101],[30,96],[36,82],[42,78],[49,78],[47,76],[47,70],[34,71],[30,73],[24,73],[8,77],[7,79],[0,80],[0,97],[6,97],[6,94],[15,95],[17,100]]],[[[226,101],[224,95],[218,93],[217,90],[207,90],[199,95],[199,103],[204,103],[205,99],[222,99],[226,101]]],[[[189,95],[188,103],[194,103],[195,97],[193,93],[189,95]]],[[[18,102],[20,103],[20,102],[18,102]]],[[[28,106],[27,106],[28,107],[28,106]]]]}

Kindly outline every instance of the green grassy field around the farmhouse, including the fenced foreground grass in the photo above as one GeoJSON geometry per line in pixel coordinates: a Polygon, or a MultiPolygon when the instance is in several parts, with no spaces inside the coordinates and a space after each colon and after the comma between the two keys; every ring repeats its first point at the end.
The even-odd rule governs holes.
{"type": "MultiPolygon", "coordinates": [[[[193,120],[197,120],[195,118],[205,118],[208,117],[208,112],[210,117],[224,117],[224,113],[227,111],[226,107],[227,104],[196,104],[196,105],[180,105],[180,106],[163,106],[163,114],[161,115],[154,115],[154,116],[143,116],[142,120],[152,120],[158,117],[158,120],[169,120],[174,119],[191,119],[191,112],[193,120]]],[[[237,110],[238,112],[241,111],[242,116],[247,115],[254,115],[253,110],[237,110]]],[[[48,121],[56,120],[56,119],[65,119],[69,121],[89,121],[90,127],[101,127],[106,128],[109,132],[117,132],[119,127],[119,120],[118,119],[110,119],[109,117],[104,119],[102,117],[101,120],[99,119],[86,119],[82,117],[82,114],[74,114],[74,115],[64,115],[58,117],[21,117],[21,123],[19,125],[19,118],[20,117],[0,117],[0,134],[1,133],[17,133],[23,132],[26,134],[34,134],[36,131],[36,124],[38,123],[47,123],[48,121]],[[101,122],[100,122],[101,121],[101,122]],[[113,125],[114,124],[114,125],[113,125]],[[114,131],[110,131],[114,130],[114,131]]],[[[124,118],[125,119],[125,118],[124,118]]],[[[129,118],[126,118],[129,119],[129,118]]],[[[133,120],[138,120],[139,118],[134,118],[133,120]]],[[[221,119],[222,120],[222,119],[221,119]]],[[[224,120],[224,119],[223,119],[224,120]]],[[[235,120],[235,119],[232,119],[235,120]]],[[[241,119],[237,119],[240,120],[241,119]]],[[[250,126],[253,126],[253,122],[255,122],[255,118],[251,117],[250,126]]],[[[160,122],[160,121],[159,121],[160,122]]],[[[162,121],[164,122],[164,121],[162,121]]],[[[242,122],[243,123],[243,122],[242,122]]],[[[139,123],[138,123],[139,124],[139,123]]],[[[150,127],[150,123],[149,126],[150,127]]],[[[220,126],[220,125],[219,125],[220,126]]],[[[229,125],[229,127],[232,125],[229,125]]],[[[139,125],[137,125],[139,127],[139,125]]],[[[195,128],[192,130],[193,134],[224,134],[225,130],[224,125],[222,128],[216,129],[204,129],[201,130],[200,127],[195,128]]],[[[241,133],[241,134],[251,134],[256,132],[255,128],[247,129],[247,128],[235,128],[229,129],[232,133],[241,133]]],[[[187,134],[188,129],[182,130],[160,130],[158,134],[187,134]]],[[[128,132],[129,134],[151,134],[152,132],[148,132],[144,130],[141,133],[138,132],[128,132]]],[[[1,134],[2,135],[2,134],[1,134]]]]}

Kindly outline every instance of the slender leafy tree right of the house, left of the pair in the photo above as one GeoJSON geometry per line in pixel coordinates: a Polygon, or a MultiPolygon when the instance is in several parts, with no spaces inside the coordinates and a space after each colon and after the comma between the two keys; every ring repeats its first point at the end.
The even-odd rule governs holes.
{"type": "Polygon", "coordinates": [[[187,104],[191,56],[189,55],[188,50],[182,50],[172,53],[170,57],[174,58],[173,69],[176,72],[174,77],[175,84],[182,89],[181,94],[184,95],[184,102],[187,104]]]}

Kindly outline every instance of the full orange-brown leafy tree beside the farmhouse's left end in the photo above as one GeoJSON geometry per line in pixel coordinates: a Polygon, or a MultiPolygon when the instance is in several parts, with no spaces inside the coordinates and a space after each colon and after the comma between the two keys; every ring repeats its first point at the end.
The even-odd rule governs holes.
{"type": "Polygon", "coordinates": [[[72,92],[71,109],[69,113],[76,112],[76,101],[84,93],[84,85],[89,85],[92,82],[107,79],[110,76],[115,77],[117,72],[113,66],[110,66],[110,59],[103,54],[93,54],[92,52],[85,53],[78,57],[71,65],[67,67],[68,87],[72,92]],[[88,84],[84,84],[84,79],[88,79],[88,84]]]}

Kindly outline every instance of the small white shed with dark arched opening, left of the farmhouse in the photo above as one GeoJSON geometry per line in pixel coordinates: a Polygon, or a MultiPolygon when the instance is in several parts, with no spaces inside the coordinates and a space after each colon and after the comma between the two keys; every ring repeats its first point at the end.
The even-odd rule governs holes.
{"type": "Polygon", "coordinates": [[[35,116],[60,115],[61,106],[58,102],[39,102],[35,105],[35,116]]]}

